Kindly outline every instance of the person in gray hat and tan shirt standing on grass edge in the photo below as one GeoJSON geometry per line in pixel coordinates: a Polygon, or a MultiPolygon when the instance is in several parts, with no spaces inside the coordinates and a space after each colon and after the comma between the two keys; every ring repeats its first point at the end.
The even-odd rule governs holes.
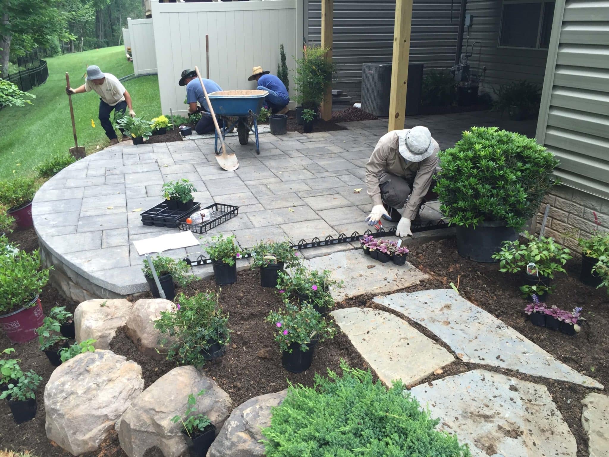
{"type": "MultiPolygon", "coordinates": [[[[68,95],[82,94],[91,90],[96,91],[99,95],[99,122],[104,127],[106,136],[110,139],[110,146],[112,146],[118,143],[118,138],[112,122],[110,122],[110,113],[113,110],[124,113],[129,108],[129,116],[135,118],[131,96],[116,76],[102,73],[97,65],[90,65],[86,68],[86,80],[82,86],[76,89],[66,86],[68,95]]],[[[123,136],[123,140],[130,140],[130,138],[123,136]]]]}

